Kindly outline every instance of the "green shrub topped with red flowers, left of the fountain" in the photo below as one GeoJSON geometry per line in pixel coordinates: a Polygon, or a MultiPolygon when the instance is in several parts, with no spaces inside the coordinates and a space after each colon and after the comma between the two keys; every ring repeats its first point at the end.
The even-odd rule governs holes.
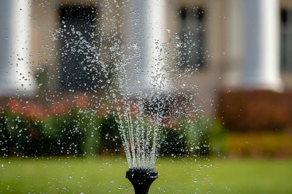
{"type": "Polygon", "coordinates": [[[38,103],[11,98],[1,106],[0,145],[3,155],[95,154],[99,149],[99,117],[78,96],[75,106],[56,101],[38,103]]]}

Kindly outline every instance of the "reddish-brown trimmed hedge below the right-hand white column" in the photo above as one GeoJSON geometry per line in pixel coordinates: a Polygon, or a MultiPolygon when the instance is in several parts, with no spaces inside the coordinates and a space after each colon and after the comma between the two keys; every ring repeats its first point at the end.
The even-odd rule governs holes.
{"type": "Polygon", "coordinates": [[[292,93],[221,92],[218,116],[229,131],[282,130],[292,126],[292,93]]]}

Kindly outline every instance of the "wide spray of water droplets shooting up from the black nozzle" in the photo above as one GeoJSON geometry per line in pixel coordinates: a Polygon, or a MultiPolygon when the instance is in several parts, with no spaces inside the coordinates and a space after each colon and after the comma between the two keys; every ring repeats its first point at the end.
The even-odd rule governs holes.
{"type": "MultiPolygon", "coordinates": [[[[81,63],[84,72],[92,75],[92,82],[84,83],[87,89],[98,93],[97,88],[101,88],[104,92],[102,98],[117,116],[129,168],[152,169],[165,138],[161,129],[166,125],[175,127],[169,118],[179,123],[201,112],[190,92],[198,87],[187,83],[197,67],[182,68],[188,61],[183,49],[192,51],[196,44],[190,33],[171,35],[164,13],[166,1],[107,0],[98,7],[103,13],[97,19],[98,25],[92,22],[96,19],[91,14],[95,14],[94,8],[87,10],[91,18],[86,24],[87,28],[97,27],[97,31],[82,31],[62,20],[63,27],[55,31],[53,41],[57,36],[78,37],[75,42],[73,38],[64,39],[62,49],[74,50],[83,57],[78,65],[81,63]]],[[[72,61],[66,52],[60,57],[72,61]]],[[[65,76],[71,77],[70,72],[65,76]]],[[[82,76],[78,76],[81,81],[82,76]]]]}

